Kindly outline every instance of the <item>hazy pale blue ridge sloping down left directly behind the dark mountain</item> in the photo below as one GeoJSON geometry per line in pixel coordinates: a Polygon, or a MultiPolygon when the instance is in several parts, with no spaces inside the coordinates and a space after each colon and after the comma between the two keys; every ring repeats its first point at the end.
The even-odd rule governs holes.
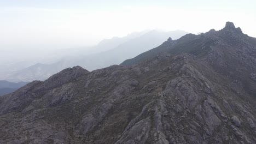
{"type": "Polygon", "coordinates": [[[105,68],[113,64],[120,64],[121,62],[125,61],[125,59],[135,57],[139,55],[139,53],[159,46],[168,37],[178,39],[185,34],[187,33],[184,31],[149,31],[146,34],[143,34],[135,39],[128,40],[111,50],[82,57],[78,59],[78,61],[73,62],[73,65],[80,65],[88,70],[95,70],[105,68]]]}

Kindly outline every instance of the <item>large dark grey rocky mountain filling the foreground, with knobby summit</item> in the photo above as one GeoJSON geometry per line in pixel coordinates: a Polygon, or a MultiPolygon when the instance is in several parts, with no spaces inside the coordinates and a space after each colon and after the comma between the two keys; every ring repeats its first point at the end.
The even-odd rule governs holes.
{"type": "Polygon", "coordinates": [[[0,143],[256,143],[256,39],[168,39],[123,65],[62,70],[0,97],[0,143]]]}

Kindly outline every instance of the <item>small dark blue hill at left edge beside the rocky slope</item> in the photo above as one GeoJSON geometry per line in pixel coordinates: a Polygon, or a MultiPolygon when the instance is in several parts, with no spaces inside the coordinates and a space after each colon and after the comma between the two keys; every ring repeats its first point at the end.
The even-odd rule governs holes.
{"type": "Polygon", "coordinates": [[[25,86],[28,82],[9,82],[9,81],[0,81],[0,96],[14,92],[16,89],[25,86]]]}

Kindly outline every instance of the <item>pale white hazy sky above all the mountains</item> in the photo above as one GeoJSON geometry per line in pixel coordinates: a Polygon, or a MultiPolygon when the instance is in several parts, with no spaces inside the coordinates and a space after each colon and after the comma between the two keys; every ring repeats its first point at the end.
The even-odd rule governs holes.
{"type": "Polygon", "coordinates": [[[232,21],[256,37],[256,1],[0,0],[0,49],[94,45],[144,29],[191,33],[232,21]]]}

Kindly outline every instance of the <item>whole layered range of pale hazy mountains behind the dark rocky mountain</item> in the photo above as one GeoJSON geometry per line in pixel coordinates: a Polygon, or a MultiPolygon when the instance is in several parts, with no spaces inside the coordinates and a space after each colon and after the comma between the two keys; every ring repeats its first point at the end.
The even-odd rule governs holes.
{"type": "Polygon", "coordinates": [[[69,50],[69,56],[61,58],[60,61],[51,64],[37,63],[15,71],[5,79],[14,82],[45,80],[62,69],[75,65],[80,65],[90,71],[105,68],[113,64],[120,64],[125,59],[159,46],[168,37],[178,39],[185,34],[187,32],[184,31],[160,32],[153,30],[132,33],[124,38],[103,40],[90,50],[69,50]]]}

